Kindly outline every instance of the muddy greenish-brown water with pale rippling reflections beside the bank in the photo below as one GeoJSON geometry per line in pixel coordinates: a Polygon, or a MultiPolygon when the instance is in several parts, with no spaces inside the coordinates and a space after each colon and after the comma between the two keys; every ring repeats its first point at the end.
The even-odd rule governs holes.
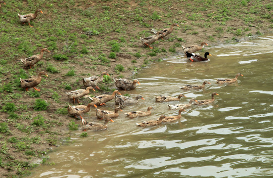
{"type": "MultiPolygon", "coordinates": [[[[49,155],[48,162],[33,170],[30,178],[264,178],[273,177],[273,34],[232,45],[205,47],[210,61],[190,63],[177,54],[140,71],[135,90],[122,91],[145,101],[124,108],[106,131],[81,130],[49,155]],[[244,76],[230,85],[216,79],[244,76]],[[185,84],[211,85],[183,91],[185,84]],[[212,105],[192,106],[180,121],[151,128],[135,125],[160,115],[177,115],[167,104],[188,103],[190,98],[209,99],[212,105]],[[156,103],[155,95],[187,98],[156,103]],[[148,117],[128,119],[123,113],[146,110],[148,117]]],[[[204,52],[200,52],[202,55],[204,52]]],[[[114,101],[105,109],[112,110],[114,101]]],[[[83,115],[98,121],[95,111],[83,115]]],[[[101,122],[101,121],[98,121],[101,122]]],[[[80,121],[77,121],[80,124],[80,121]]]]}

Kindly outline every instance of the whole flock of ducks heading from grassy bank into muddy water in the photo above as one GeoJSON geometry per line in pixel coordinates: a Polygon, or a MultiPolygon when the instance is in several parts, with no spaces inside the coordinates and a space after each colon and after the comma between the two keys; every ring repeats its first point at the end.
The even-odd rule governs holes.
{"type": "MultiPolygon", "coordinates": [[[[3,3],[3,1],[0,1],[0,3],[3,3]]],[[[19,17],[20,22],[22,22],[23,24],[28,23],[28,25],[30,27],[33,27],[30,25],[30,21],[37,17],[38,12],[43,13],[41,9],[37,9],[34,14],[31,13],[31,14],[26,14],[26,15],[20,15],[18,13],[18,17],[19,17]]],[[[174,26],[179,27],[179,25],[177,23],[174,23],[171,25],[170,28],[165,28],[160,31],[152,30],[152,32],[155,33],[155,35],[147,37],[147,38],[140,38],[141,43],[145,46],[148,46],[149,48],[152,48],[150,45],[152,43],[154,43],[156,40],[158,40],[159,38],[161,38],[163,40],[163,38],[165,38],[168,34],[172,33],[174,26]]],[[[204,45],[207,45],[207,44],[205,42],[203,42],[203,43],[201,43],[200,46],[199,45],[192,45],[192,46],[188,46],[188,47],[182,46],[182,48],[183,48],[184,53],[186,54],[187,58],[189,60],[191,60],[192,62],[207,61],[208,60],[207,55],[211,55],[209,52],[205,52],[205,58],[194,53],[198,50],[201,50],[204,45]]],[[[36,54],[36,55],[30,56],[28,58],[20,59],[20,60],[25,67],[32,68],[34,66],[34,64],[36,64],[38,61],[41,60],[41,58],[43,57],[44,51],[47,51],[50,53],[50,51],[47,48],[43,48],[43,49],[41,49],[40,54],[36,54]]],[[[26,91],[30,88],[34,88],[35,90],[39,91],[40,89],[36,89],[35,87],[40,84],[41,79],[42,79],[42,75],[45,75],[48,77],[46,72],[42,71],[38,74],[37,77],[31,77],[29,79],[21,79],[20,78],[21,87],[23,89],[26,89],[26,91]]],[[[91,76],[88,78],[82,78],[83,85],[87,88],[86,89],[77,89],[74,91],[66,92],[66,94],[68,95],[68,98],[73,100],[74,104],[75,104],[75,100],[79,103],[79,98],[82,98],[82,97],[88,95],[90,90],[95,91],[94,88],[100,89],[98,87],[98,84],[103,81],[104,75],[109,76],[109,74],[107,72],[103,72],[100,76],[91,76]]],[[[234,83],[237,81],[238,76],[243,76],[243,75],[241,73],[239,73],[236,75],[236,77],[234,79],[219,79],[216,82],[219,84],[234,83]]],[[[128,79],[121,79],[121,78],[119,78],[119,79],[114,78],[114,82],[115,82],[115,85],[118,89],[123,89],[123,90],[135,89],[136,84],[140,85],[138,80],[131,81],[128,79]]],[[[183,89],[183,90],[203,89],[205,87],[205,84],[210,84],[210,83],[208,81],[205,81],[203,83],[203,85],[185,85],[181,89],[183,89]]],[[[195,98],[192,98],[192,99],[190,99],[189,103],[168,105],[170,109],[179,109],[178,115],[176,115],[176,116],[162,115],[157,120],[143,121],[141,123],[137,123],[136,125],[141,126],[141,127],[147,127],[147,126],[159,125],[162,122],[176,121],[181,118],[181,113],[183,111],[186,111],[185,109],[190,107],[193,102],[195,102],[194,104],[198,104],[198,105],[210,104],[215,100],[214,95],[219,95],[219,94],[216,92],[213,92],[211,94],[211,99],[197,101],[195,98]]],[[[184,94],[180,94],[178,97],[160,95],[160,96],[155,96],[155,101],[156,102],[176,101],[176,100],[180,100],[180,98],[183,96],[186,97],[184,94]]],[[[86,105],[74,105],[74,106],[68,105],[68,113],[72,116],[75,116],[76,118],[80,117],[81,122],[82,122],[82,129],[84,131],[85,130],[104,130],[104,129],[106,129],[107,123],[109,121],[114,122],[112,120],[112,118],[116,118],[119,116],[118,111],[122,111],[122,109],[124,107],[126,107],[128,104],[137,103],[138,99],[144,100],[144,98],[140,95],[137,95],[135,99],[128,97],[128,96],[121,95],[119,90],[115,90],[112,94],[102,94],[102,95],[98,95],[95,97],[89,97],[89,99],[91,100],[91,102],[87,106],[86,105]],[[116,107],[114,111],[101,110],[101,109],[97,108],[98,106],[106,105],[105,104],[106,102],[108,102],[114,98],[115,98],[115,104],[119,105],[119,107],[116,107]],[[88,122],[81,117],[81,114],[89,112],[90,108],[92,106],[94,106],[96,108],[97,118],[105,119],[104,124],[96,123],[96,122],[88,122]]],[[[151,114],[151,109],[154,109],[154,108],[152,106],[148,106],[147,111],[132,111],[132,112],[126,113],[126,115],[129,118],[148,116],[151,114]]]]}

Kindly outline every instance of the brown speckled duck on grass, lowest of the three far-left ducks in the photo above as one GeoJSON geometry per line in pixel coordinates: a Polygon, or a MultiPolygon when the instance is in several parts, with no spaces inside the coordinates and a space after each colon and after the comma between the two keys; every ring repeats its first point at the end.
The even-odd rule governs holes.
{"type": "Polygon", "coordinates": [[[42,72],[39,72],[37,77],[31,77],[29,79],[20,78],[21,87],[23,89],[26,89],[26,91],[29,88],[33,88],[37,91],[40,91],[40,89],[36,89],[35,87],[41,83],[42,75],[45,75],[46,77],[48,77],[47,73],[45,71],[42,71],[42,72]]]}

